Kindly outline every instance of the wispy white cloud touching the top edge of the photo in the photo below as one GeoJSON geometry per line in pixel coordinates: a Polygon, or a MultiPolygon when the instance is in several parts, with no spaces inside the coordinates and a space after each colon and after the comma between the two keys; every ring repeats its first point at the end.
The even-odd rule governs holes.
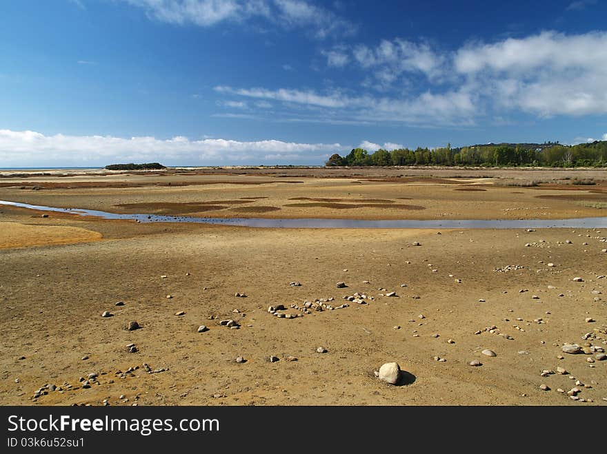
{"type": "Polygon", "coordinates": [[[124,0],[143,8],[149,17],[177,25],[210,27],[218,23],[263,19],[285,30],[310,31],[324,39],[330,34],[346,36],[357,29],[346,19],[322,6],[304,0],[124,0]]]}

